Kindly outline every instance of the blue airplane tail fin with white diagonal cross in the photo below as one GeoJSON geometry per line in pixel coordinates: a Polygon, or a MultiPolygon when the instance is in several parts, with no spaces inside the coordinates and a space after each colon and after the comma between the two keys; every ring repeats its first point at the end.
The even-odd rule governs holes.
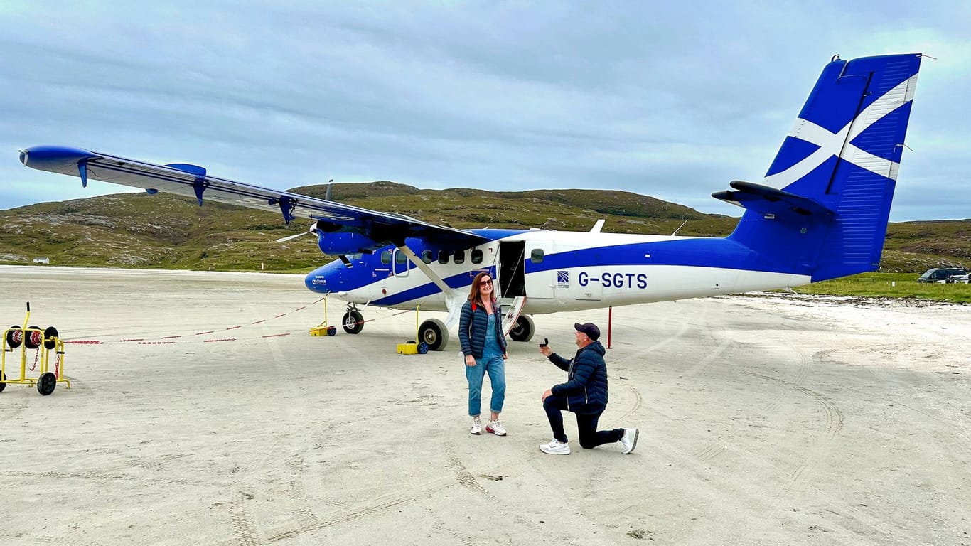
{"type": "Polygon", "coordinates": [[[747,209],[728,238],[813,282],[876,270],[920,66],[834,57],[761,184],[712,194],[747,209]]]}

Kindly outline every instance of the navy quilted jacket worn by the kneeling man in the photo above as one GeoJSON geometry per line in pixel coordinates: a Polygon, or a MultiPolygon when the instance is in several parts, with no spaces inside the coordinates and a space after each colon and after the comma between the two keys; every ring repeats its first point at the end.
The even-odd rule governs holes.
{"type": "Polygon", "coordinates": [[[573,413],[600,413],[607,408],[607,350],[599,341],[587,345],[567,360],[553,353],[550,361],[566,370],[567,381],[552,387],[552,393],[567,397],[573,413]]]}

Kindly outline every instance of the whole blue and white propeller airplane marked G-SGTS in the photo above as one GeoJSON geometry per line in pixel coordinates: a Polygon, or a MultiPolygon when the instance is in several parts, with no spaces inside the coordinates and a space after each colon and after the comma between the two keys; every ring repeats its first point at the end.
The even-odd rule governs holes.
{"type": "MultiPolygon", "coordinates": [[[[442,350],[473,277],[489,272],[503,296],[510,337],[528,341],[530,315],[786,289],[879,267],[920,53],[834,56],[758,184],[712,195],[745,213],[726,237],[543,229],[455,229],[288,191],[241,184],[197,165],[156,165],[77,148],[20,151],[35,169],[203,197],[313,221],[320,251],[340,256],[307,288],[361,308],[448,311],[419,325],[419,343],[442,350]]],[[[286,239],[286,238],[285,238],[286,239]]],[[[284,239],[281,239],[284,240],[284,239]]]]}

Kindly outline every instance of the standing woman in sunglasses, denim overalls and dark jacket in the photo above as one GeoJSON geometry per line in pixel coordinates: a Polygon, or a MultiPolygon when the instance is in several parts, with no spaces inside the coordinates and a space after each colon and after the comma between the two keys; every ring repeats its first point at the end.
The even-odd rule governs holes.
{"type": "Polygon", "coordinates": [[[506,399],[506,338],[502,335],[502,315],[496,305],[492,290],[492,277],[483,272],[472,280],[469,299],[462,305],[458,319],[458,340],[465,356],[465,378],[469,381],[469,417],[472,418],[473,434],[483,433],[480,418],[483,379],[488,373],[492,385],[492,413],[486,432],[505,436],[506,429],[499,423],[499,413],[506,399]]]}

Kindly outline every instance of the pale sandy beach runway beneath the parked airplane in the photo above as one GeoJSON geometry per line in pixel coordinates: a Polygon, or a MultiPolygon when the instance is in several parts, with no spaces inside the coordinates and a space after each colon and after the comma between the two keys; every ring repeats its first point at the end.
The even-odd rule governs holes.
{"type": "MultiPolygon", "coordinates": [[[[583,450],[568,416],[558,457],[539,399],[565,374],[535,343],[510,344],[509,435],[473,436],[454,328],[424,356],[395,353],[414,313],[311,337],[301,276],[0,266],[0,286],[0,323],[29,301],[72,382],[0,393],[0,544],[971,545],[968,306],[615,309],[601,427],[640,427],[637,450],[583,450]]],[[[534,320],[562,355],[574,322],[607,329],[534,320]]]]}

